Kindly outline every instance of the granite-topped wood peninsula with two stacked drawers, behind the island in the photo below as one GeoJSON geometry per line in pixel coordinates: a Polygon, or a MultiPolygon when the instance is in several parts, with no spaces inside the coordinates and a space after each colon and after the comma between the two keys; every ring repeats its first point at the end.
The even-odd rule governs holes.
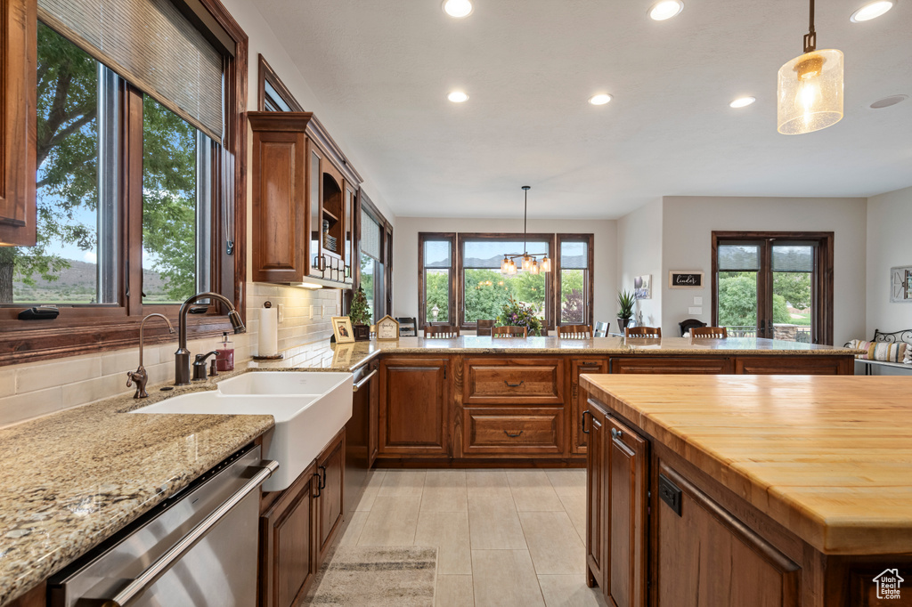
{"type": "Polygon", "coordinates": [[[336,351],[348,348],[379,359],[386,467],[582,467],[581,374],[850,375],[855,354],[756,338],[402,337],[336,351]]]}

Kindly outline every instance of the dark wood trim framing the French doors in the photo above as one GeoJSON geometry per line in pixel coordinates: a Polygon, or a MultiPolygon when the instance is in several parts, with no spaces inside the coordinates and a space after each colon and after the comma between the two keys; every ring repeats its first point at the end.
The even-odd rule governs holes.
{"type": "MultiPolygon", "coordinates": [[[[713,231],[712,246],[710,255],[712,281],[712,314],[711,322],[713,325],[719,322],[719,283],[716,279],[719,273],[719,243],[720,241],[816,241],[818,258],[814,260],[815,280],[812,283],[814,289],[814,301],[818,304],[814,311],[812,320],[812,331],[814,332],[815,344],[833,345],[833,307],[834,307],[834,286],[833,286],[833,261],[834,261],[834,232],[832,231],[713,231]]],[[[768,248],[764,247],[763,255],[768,255],[768,248]]],[[[769,267],[769,259],[766,259],[766,267],[769,267]]],[[[772,284],[768,285],[772,289],[772,284]]],[[[766,311],[758,311],[758,314],[766,311]]],[[[769,314],[772,316],[772,312],[769,314]]]]}

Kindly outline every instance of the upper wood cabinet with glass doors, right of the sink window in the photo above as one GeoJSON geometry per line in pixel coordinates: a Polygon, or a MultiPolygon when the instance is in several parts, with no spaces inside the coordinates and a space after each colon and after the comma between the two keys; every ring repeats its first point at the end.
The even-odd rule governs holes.
{"type": "Polygon", "coordinates": [[[254,281],[350,285],[361,178],[311,112],[249,112],[254,281]]]}

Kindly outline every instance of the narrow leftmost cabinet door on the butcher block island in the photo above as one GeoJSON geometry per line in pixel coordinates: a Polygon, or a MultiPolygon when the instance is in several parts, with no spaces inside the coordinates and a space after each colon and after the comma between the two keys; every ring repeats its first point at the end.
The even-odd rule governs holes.
{"type": "Polygon", "coordinates": [[[589,401],[586,409],[586,583],[605,587],[605,412],[589,401]]]}

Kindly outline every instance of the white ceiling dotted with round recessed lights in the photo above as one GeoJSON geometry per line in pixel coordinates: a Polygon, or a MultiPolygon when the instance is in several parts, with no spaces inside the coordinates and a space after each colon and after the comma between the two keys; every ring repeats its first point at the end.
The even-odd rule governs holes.
{"type": "Polygon", "coordinates": [[[775,96],[803,0],[685,0],[665,22],[653,0],[472,2],[458,20],[440,0],[258,0],[398,216],[513,216],[524,184],[530,215],[554,218],[912,185],[912,99],[868,108],[912,95],[908,0],[864,24],[849,21],[864,0],[817,2],[818,47],[845,53],[845,118],[799,136],[776,132],[775,96]],[[729,108],[743,95],[757,103],[729,108]]]}

